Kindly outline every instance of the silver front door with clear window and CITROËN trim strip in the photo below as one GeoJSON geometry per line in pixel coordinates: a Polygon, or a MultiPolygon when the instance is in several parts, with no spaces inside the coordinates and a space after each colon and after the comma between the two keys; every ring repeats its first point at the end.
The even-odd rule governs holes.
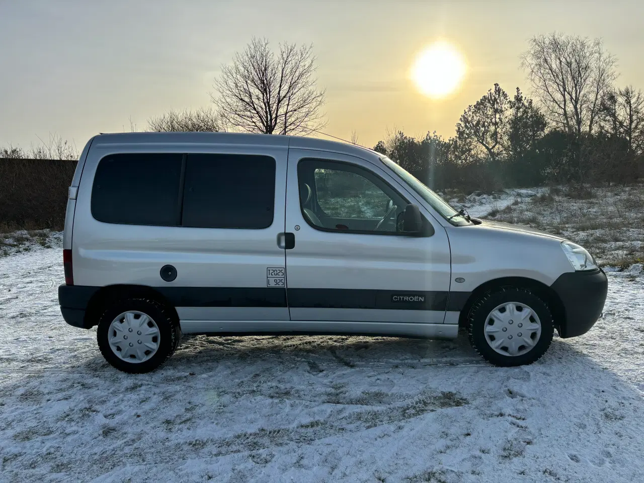
{"type": "Polygon", "coordinates": [[[290,317],[301,321],[443,323],[450,290],[444,229],[399,232],[410,194],[360,158],[289,150],[286,231],[290,317]]]}

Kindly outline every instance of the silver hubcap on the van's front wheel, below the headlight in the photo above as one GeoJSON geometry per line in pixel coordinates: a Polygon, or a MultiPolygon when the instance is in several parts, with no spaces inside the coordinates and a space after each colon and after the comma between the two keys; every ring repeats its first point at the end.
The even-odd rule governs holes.
{"type": "Polygon", "coordinates": [[[541,321],[524,303],[502,303],[492,310],[483,328],[491,348],[503,355],[523,355],[541,337],[541,321]]]}

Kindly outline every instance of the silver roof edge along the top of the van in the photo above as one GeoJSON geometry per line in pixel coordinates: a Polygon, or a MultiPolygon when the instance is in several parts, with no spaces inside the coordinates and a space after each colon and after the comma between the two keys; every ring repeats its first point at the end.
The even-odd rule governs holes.
{"type": "Polygon", "coordinates": [[[281,136],[247,133],[100,133],[93,144],[140,144],[140,143],[178,143],[178,144],[243,144],[246,146],[285,146],[295,149],[316,149],[349,155],[367,157],[381,154],[356,144],[337,142],[302,136],[281,136]]]}

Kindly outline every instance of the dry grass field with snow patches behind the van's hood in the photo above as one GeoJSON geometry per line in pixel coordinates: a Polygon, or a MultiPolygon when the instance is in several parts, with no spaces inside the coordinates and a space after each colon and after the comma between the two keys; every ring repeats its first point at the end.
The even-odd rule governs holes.
{"type": "Polygon", "coordinates": [[[540,196],[516,198],[488,213],[489,220],[559,234],[580,243],[600,265],[644,263],[644,185],[553,187],[540,196]]]}

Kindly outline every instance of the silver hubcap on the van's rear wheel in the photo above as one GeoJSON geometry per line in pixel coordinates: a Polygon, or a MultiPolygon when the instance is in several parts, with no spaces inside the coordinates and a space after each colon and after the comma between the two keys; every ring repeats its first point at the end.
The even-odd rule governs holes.
{"type": "Polygon", "coordinates": [[[123,312],[109,325],[109,346],[120,359],[142,363],[155,355],[159,346],[159,328],[152,317],[131,310],[123,312]]]}

